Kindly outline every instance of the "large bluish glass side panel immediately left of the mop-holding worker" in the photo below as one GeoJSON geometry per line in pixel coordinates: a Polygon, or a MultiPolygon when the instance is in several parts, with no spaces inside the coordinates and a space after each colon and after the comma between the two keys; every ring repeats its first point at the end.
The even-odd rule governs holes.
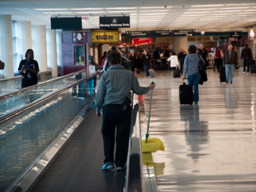
{"type": "MultiPolygon", "coordinates": [[[[0,118],[1,122],[5,121],[0,124],[0,192],[13,185],[68,124],[93,101],[95,87],[91,87],[92,84],[94,85],[93,78],[86,79],[54,96],[51,96],[53,93],[49,94],[49,99],[45,95],[46,99],[42,98],[42,102],[33,101],[30,105],[38,104],[8,121],[4,120],[4,116],[15,112],[0,118]]],[[[52,85],[52,89],[53,87],[52,85]]],[[[20,98],[28,101],[26,96],[20,98]]]]}

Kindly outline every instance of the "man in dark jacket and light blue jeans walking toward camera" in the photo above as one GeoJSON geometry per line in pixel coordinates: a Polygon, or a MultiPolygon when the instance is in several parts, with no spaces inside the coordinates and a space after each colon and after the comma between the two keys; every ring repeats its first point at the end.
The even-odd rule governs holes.
{"type": "Polygon", "coordinates": [[[224,64],[226,66],[226,78],[227,78],[227,83],[229,83],[229,73],[230,73],[230,83],[232,83],[233,76],[234,76],[234,70],[235,70],[235,65],[238,66],[238,57],[237,54],[233,49],[233,45],[229,44],[226,52],[224,53],[224,64]]]}

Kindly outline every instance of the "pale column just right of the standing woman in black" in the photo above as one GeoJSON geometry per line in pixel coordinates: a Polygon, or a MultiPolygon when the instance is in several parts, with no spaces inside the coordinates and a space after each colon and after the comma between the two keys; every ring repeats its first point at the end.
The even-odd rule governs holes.
{"type": "Polygon", "coordinates": [[[39,71],[47,71],[47,52],[46,52],[46,30],[45,25],[32,25],[32,49],[34,60],[37,60],[39,71]]]}

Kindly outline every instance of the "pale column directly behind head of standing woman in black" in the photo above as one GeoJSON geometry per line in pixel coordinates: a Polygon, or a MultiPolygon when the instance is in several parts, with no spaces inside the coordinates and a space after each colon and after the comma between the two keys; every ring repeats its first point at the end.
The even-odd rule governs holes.
{"type": "MultiPolygon", "coordinates": [[[[16,21],[17,63],[25,59],[25,53],[32,49],[31,21],[16,21]]],[[[36,60],[36,59],[35,59],[36,60]]]]}

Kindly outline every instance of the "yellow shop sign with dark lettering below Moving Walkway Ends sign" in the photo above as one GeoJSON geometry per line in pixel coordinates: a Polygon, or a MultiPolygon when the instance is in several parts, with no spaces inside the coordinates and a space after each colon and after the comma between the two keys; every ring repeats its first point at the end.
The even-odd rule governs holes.
{"type": "Polygon", "coordinates": [[[91,31],[92,43],[117,43],[118,31],[91,31]]]}

